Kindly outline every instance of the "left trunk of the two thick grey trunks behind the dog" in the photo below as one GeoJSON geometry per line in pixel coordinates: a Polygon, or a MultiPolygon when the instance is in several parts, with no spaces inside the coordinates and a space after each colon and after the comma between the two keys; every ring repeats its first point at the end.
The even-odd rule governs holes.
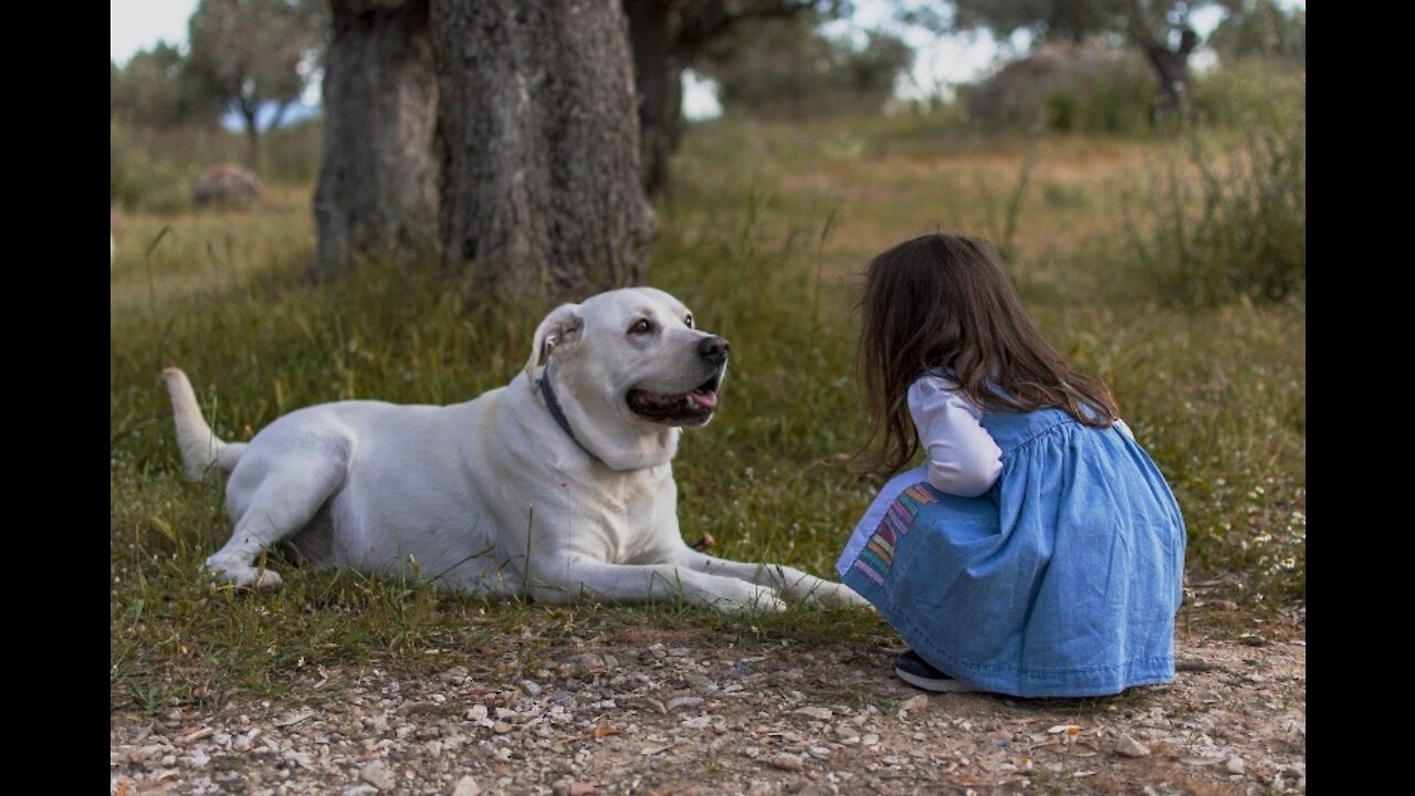
{"type": "Polygon", "coordinates": [[[406,261],[437,245],[427,0],[335,0],[333,11],[316,276],[355,256],[406,261]]]}

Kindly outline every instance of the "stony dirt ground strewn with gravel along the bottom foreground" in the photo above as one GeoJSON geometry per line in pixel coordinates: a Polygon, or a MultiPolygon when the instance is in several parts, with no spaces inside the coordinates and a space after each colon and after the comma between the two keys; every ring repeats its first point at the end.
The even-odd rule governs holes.
{"type": "Polygon", "coordinates": [[[1214,616],[1182,616],[1173,684],[1104,700],[924,694],[897,649],[700,630],[321,669],[300,704],[113,712],[110,792],[1305,792],[1305,620],[1214,616]]]}

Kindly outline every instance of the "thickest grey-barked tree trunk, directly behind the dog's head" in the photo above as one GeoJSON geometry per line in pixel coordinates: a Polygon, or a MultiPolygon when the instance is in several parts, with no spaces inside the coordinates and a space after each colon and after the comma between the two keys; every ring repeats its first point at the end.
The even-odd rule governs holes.
{"type": "Polygon", "coordinates": [[[654,238],[618,0],[432,0],[439,227],[492,295],[633,285],[654,238]]]}

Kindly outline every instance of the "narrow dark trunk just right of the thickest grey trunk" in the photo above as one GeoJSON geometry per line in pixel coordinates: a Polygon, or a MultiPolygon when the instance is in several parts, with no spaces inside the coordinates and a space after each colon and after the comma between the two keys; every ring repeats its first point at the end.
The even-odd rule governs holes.
{"type": "Polygon", "coordinates": [[[671,0],[624,0],[638,89],[640,174],[644,191],[668,187],[668,156],[682,125],[683,67],[672,52],[671,0]]]}

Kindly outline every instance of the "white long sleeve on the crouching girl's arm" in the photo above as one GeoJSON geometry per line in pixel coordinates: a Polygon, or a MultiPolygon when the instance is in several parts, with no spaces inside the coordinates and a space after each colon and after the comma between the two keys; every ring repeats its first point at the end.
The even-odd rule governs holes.
{"type": "Polygon", "coordinates": [[[982,409],[957,382],[927,375],[908,390],[908,411],[928,465],[928,483],[959,497],[978,497],[1002,474],[1002,449],[982,428],[982,409]]]}

